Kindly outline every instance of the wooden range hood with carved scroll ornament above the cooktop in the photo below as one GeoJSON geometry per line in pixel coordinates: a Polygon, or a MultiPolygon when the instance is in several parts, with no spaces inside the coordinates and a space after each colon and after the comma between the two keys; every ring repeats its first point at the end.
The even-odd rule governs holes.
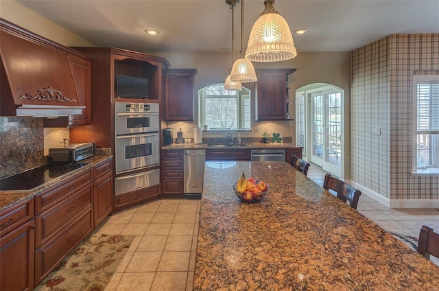
{"type": "Polygon", "coordinates": [[[90,63],[88,56],[5,19],[0,19],[0,40],[1,116],[73,116],[89,106],[78,88],[90,80],[75,80],[72,65],[78,60],[90,63]],[[41,110],[20,113],[23,105],[41,110]]]}

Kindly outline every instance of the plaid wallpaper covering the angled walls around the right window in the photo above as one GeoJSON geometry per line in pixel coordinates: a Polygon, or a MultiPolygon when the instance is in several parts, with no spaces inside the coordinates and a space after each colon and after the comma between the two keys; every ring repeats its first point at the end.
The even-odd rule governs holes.
{"type": "Polygon", "coordinates": [[[439,34],[393,34],[351,52],[351,180],[390,200],[439,199],[438,176],[410,174],[416,74],[439,74],[439,34]]]}

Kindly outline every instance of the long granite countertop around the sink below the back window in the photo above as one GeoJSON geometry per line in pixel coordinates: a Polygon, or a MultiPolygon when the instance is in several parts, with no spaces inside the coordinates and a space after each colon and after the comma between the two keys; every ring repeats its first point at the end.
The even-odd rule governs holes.
{"type": "Polygon", "coordinates": [[[162,150],[187,150],[187,149],[211,149],[211,150],[259,150],[259,149],[294,149],[302,148],[293,143],[241,143],[233,146],[209,146],[211,143],[173,143],[171,146],[162,146],[162,150]]]}

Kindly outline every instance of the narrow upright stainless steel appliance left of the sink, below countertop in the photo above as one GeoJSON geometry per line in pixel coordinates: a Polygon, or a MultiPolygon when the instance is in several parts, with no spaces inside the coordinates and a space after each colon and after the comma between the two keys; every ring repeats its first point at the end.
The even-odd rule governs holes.
{"type": "Polygon", "coordinates": [[[203,191],[206,150],[185,150],[183,159],[185,174],[185,198],[199,199],[203,191]]]}

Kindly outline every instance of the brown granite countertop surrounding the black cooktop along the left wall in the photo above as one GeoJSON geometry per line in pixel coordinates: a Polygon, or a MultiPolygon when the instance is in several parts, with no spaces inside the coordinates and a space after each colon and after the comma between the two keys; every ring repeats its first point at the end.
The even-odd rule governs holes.
{"type": "Polygon", "coordinates": [[[72,172],[69,172],[68,174],[65,174],[63,176],[60,176],[49,183],[45,183],[39,187],[36,187],[35,189],[32,189],[31,191],[0,191],[0,211],[3,211],[3,209],[6,209],[8,207],[11,207],[15,205],[16,203],[19,203],[23,200],[27,200],[28,198],[32,198],[36,194],[40,193],[41,191],[47,189],[48,187],[52,187],[54,184],[66,180],[68,178],[71,178],[71,176],[74,176],[76,174],[80,174],[80,172],[84,172],[86,170],[90,170],[92,167],[97,165],[98,163],[107,161],[108,159],[112,159],[111,155],[95,155],[91,156],[88,159],[84,159],[81,161],[81,163],[87,163],[87,165],[84,165],[84,167],[78,168],[78,170],[74,170],[72,172]]]}

